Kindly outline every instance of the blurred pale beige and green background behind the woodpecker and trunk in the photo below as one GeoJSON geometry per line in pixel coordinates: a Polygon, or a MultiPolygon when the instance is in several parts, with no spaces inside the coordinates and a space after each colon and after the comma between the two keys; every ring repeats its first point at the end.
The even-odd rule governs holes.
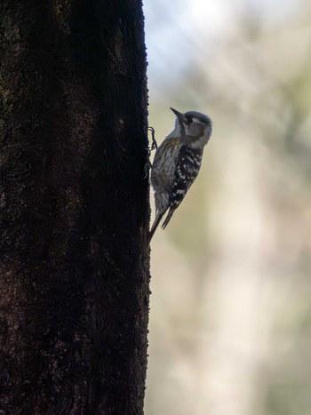
{"type": "Polygon", "coordinates": [[[146,415],[310,415],[311,4],[144,11],[158,143],[169,107],[214,124],[152,241],[146,415]]]}

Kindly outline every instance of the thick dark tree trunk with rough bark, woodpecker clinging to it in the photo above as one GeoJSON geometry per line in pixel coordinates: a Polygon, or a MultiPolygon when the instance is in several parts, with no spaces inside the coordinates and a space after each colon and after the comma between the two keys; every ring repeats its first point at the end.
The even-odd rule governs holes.
{"type": "Polygon", "coordinates": [[[0,3],[0,413],[142,414],[142,4],[0,3]]]}

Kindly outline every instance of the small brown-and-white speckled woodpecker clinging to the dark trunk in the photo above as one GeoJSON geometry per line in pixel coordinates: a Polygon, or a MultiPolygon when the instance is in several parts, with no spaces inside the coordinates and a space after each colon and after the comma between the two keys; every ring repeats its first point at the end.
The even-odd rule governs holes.
{"type": "Polygon", "coordinates": [[[203,148],[211,137],[211,118],[196,111],[184,114],[174,108],[175,128],[159,148],[151,168],[151,185],[155,191],[156,219],[149,241],[156,232],[163,215],[163,229],[195,181],[201,167],[203,148]]]}

